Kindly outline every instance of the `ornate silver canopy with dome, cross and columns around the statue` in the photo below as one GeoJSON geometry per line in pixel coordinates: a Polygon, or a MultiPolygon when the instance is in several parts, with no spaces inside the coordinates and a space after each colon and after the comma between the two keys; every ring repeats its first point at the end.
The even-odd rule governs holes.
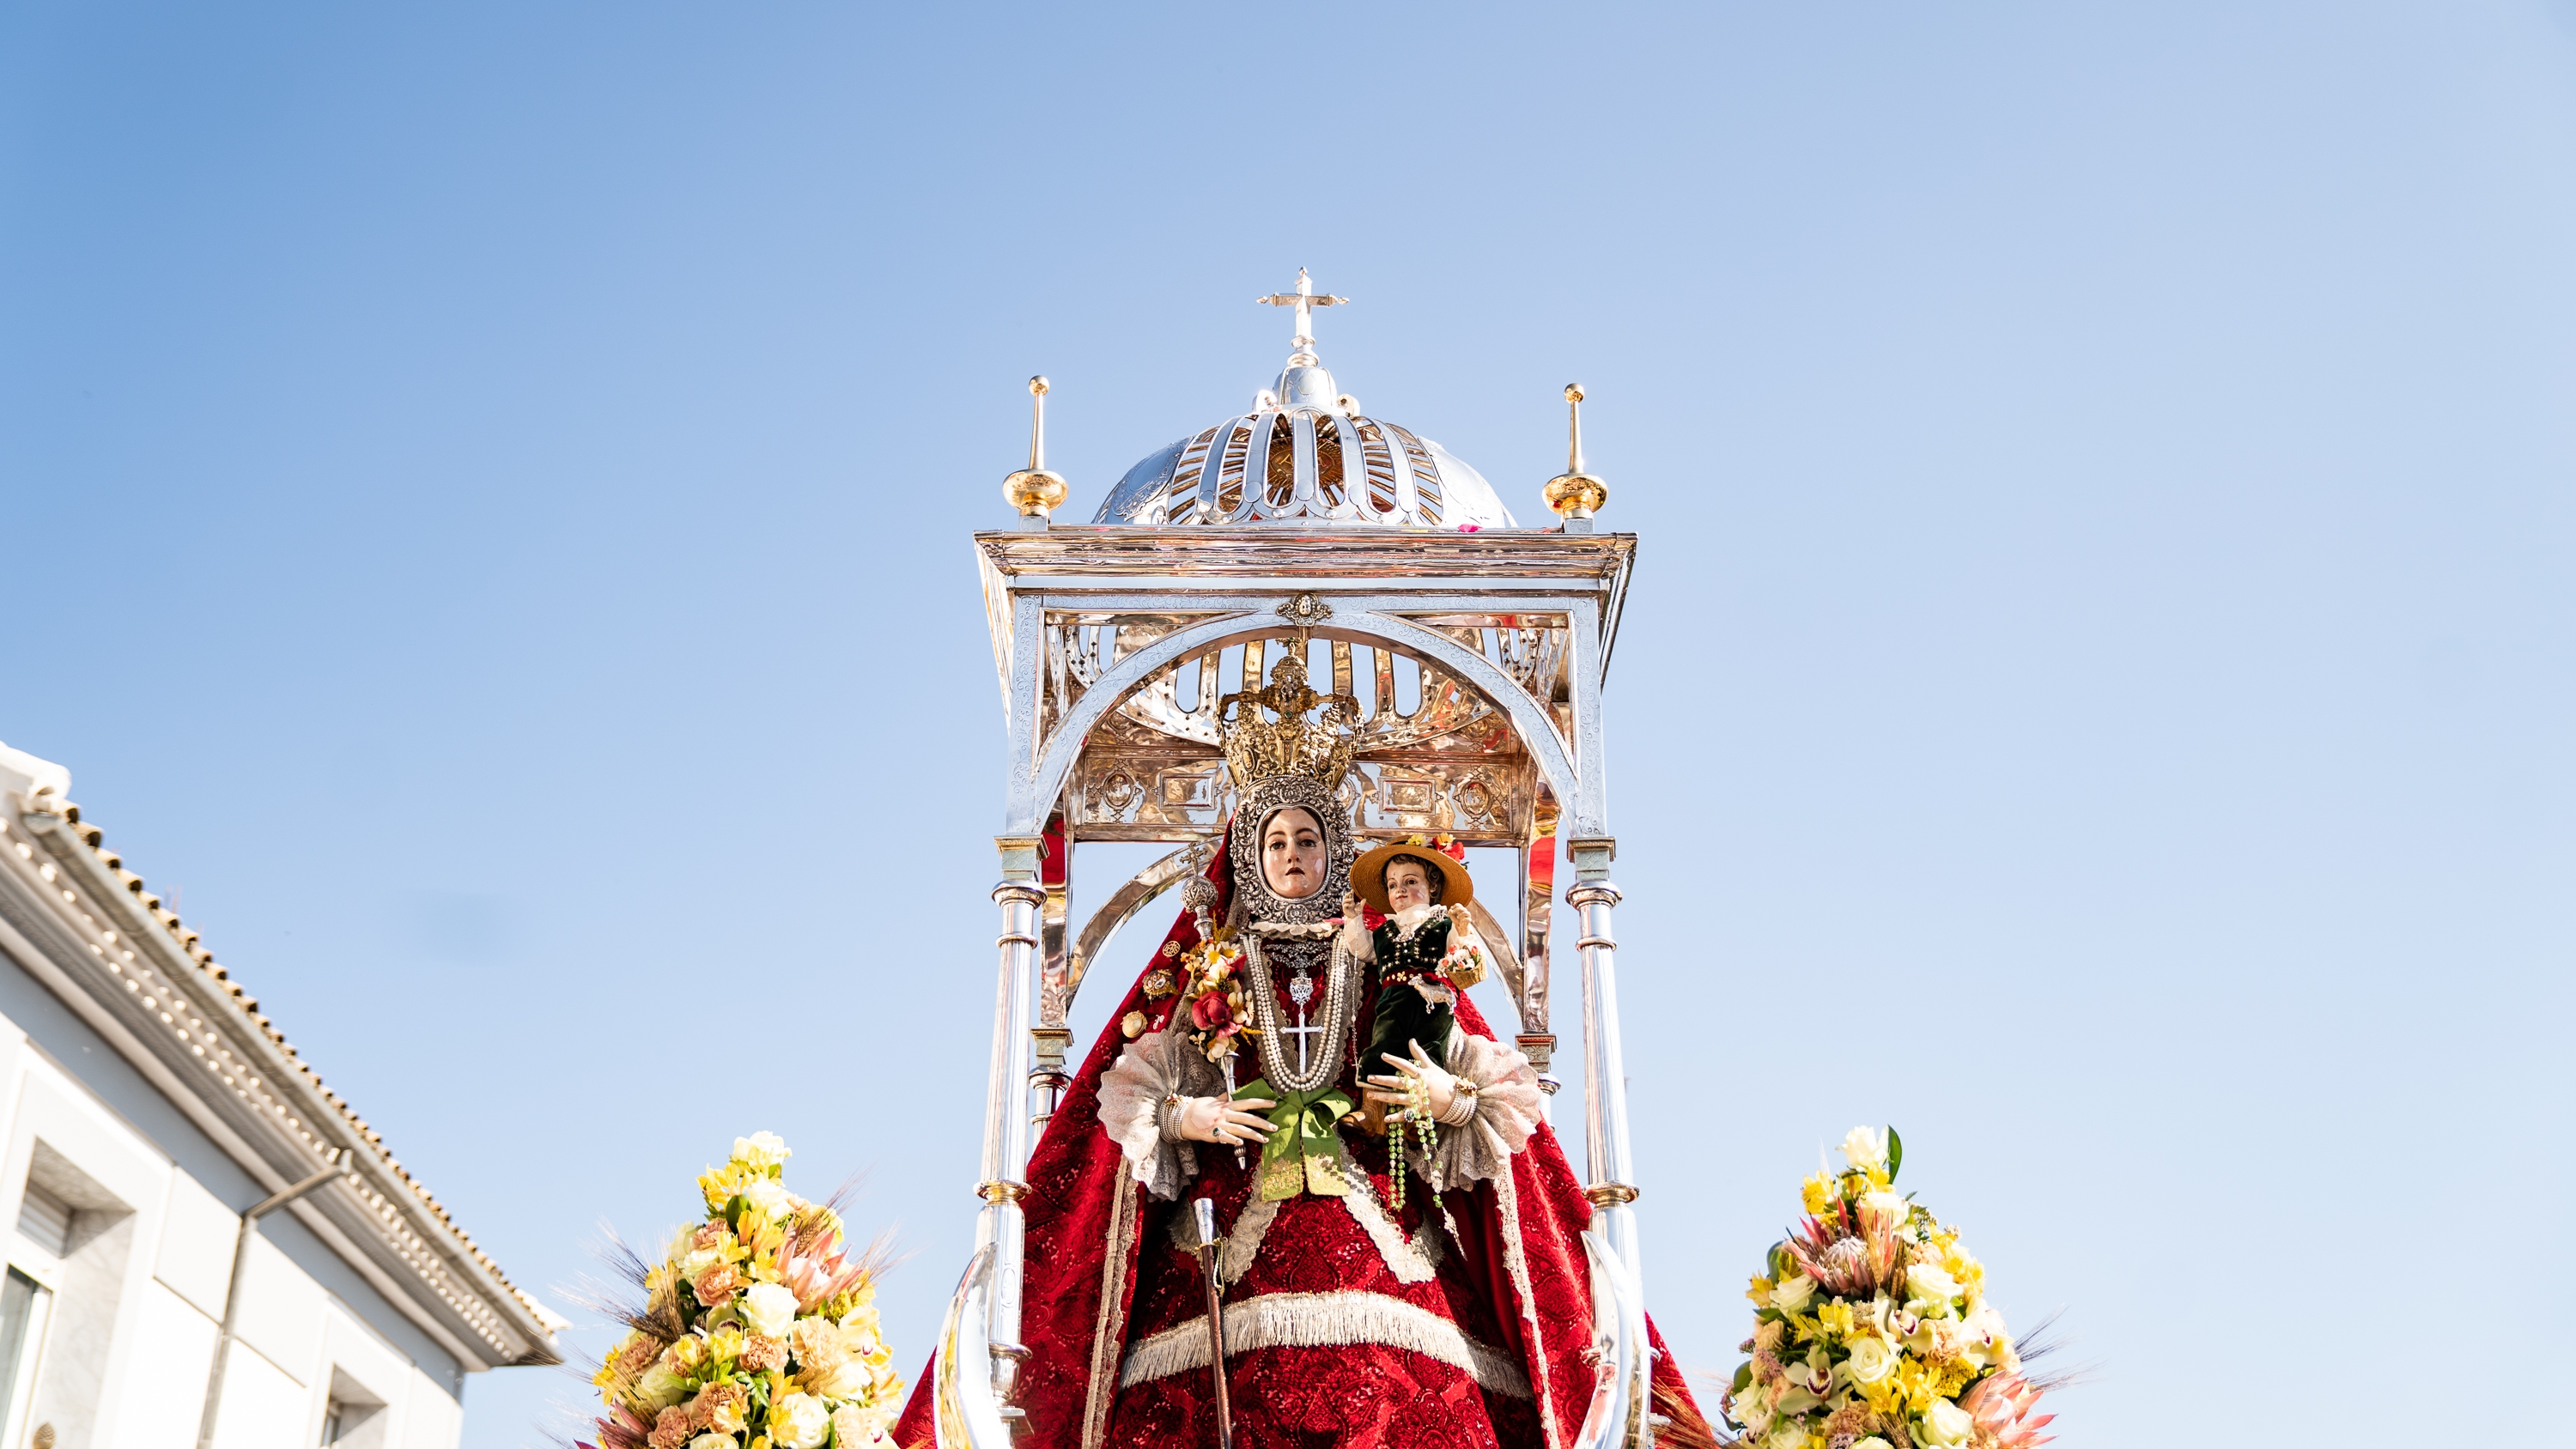
{"type": "MultiPolygon", "coordinates": [[[[940,1444],[994,1449],[1012,1413],[1020,1174],[1030,1127],[1069,1081],[1074,993],[1121,924],[1221,849],[1229,816],[1260,788],[1226,757],[1224,703],[1262,692],[1270,667],[1296,656],[1316,692],[1347,697],[1347,770],[1319,785],[1337,836],[1365,849],[1448,834],[1517,857],[1520,891],[1489,880],[1471,911],[1520,1014],[1517,1045],[1548,1091],[1548,921],[1558,854],[1571,865],[1566,903],[1584,911],[1584,1135],[1597,1210],[1587,1241],[1597,1238],[1602,1349],[1582,1449],[1643,1449],[1654,1434],[1600,710],[1636,538],[1592,530],[1607,492],[1582,471],[1579,445],[1566,476],[1584,486],[1551,481],[1561,522],[1520,528],[1473,468],[1334,389],[1314,355],[1311,309],[1342,299],[1314,293],[1301,273],[1296,291],[1260,301],[1293,306],[1298,329],[1278,386],[1252,412],[1131,468],[1092,525],[1048,522],[1054,504],[1038,497],[1048,489],[1023,486],[1005,489],[1020,528],[974,538],[1007,726],[994,888],[1002,988],[987,1212],[943,1328],[940,1444]],[[1074,924],[1072,860],[1084,842],[1175,849],[1074,924]],[[989,1390],[979,1387],[987,1356],[989,1390]]],[[[1566,396],[1579,401],[1577,389],[1566,396]]],[[[1033,443],[1030,471],[1012,479],[1041,466],[1033,443]]]]}

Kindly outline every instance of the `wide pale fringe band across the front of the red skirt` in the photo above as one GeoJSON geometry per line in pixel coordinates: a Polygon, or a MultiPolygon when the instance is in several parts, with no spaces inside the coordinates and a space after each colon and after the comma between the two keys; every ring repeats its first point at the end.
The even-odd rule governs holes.
{"type": "MultiPolygon", "coordinates": [[[[1376,1292],[1270,1292],[1226,1305],[1226,1356],[1252,1349],[1337,1349],[1386,1343],[1463,1369],[1476,1387],[1530,1398],[1530,1380],[1502,1349],[1476,1343],[1455,1323],[1401,1297],[1376,1292]]],[[[1118,1387],[1136,1387],[1208,1367],[1208,1315],[1198,1315],[1128,1349],[1118,1387]]]]}

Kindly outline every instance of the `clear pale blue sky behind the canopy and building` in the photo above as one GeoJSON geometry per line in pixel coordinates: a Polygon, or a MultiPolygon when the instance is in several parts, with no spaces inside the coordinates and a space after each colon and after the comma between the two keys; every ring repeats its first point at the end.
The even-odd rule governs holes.
{"type": "MultiPolygon", "coordinates": [[[[873,1171],[917,1361],[966,535],[1028,373],[1087,520],[1306,265],[1522,522],[1592,389],[1687,1367],[1896,1122],[2102,1361],[2071,1444],[2561,1441],[2571,257],[2568,3],[15,0],[0,739],[520,1284],[770,1127],[873,1171]]],[[[482,1377],[466,1444],[580,1398],[482,1377]]]]}

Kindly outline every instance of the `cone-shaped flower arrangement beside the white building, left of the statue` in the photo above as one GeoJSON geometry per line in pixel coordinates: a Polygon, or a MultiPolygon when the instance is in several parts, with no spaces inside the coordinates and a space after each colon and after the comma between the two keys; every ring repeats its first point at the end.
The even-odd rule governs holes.
{"type": "Polygon", "coordinates": [[[734,1138],[698,1179],[706,1220],[662,1264],[618,1251],[644,1307],[600,1361],[598,1444],[585,1449],[891,1446],[904,1380],[878,1338],[881,1246],[850,1253],[840,1212],[786,1189],[788,1145],[734,1138]]]}

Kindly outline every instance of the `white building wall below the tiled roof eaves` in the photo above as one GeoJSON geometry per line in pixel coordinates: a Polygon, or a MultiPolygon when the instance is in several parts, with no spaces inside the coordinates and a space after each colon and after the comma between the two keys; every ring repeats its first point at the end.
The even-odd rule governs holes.
{"type": "MultiPolygon", "coordinates": [[[[193,1449],[240,1230],[211,1192],[0,1017],[0,1243],[52,1313],[0,1421],[57,1449],[193,1449]],[[64,1253],[18,1233],[28,1181],[72,1202],[64,1253]]],[[[216,1449],[309,1449],[345,1405],[348,1449],[456,1449],[461,1410],[312,1274],[252,1235],[216,1449]]]]}

